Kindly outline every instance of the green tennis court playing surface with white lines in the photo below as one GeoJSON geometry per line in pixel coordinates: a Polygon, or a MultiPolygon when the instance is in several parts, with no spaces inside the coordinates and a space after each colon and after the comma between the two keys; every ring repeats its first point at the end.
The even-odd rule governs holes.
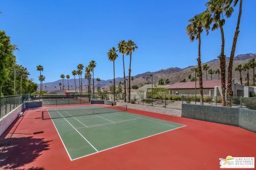
{"type": "Polygon", "coordinates": [[[71,160],[185,126],[125,111],[123,106],[87,106],[43,115],[52,119],[71,160]]]}

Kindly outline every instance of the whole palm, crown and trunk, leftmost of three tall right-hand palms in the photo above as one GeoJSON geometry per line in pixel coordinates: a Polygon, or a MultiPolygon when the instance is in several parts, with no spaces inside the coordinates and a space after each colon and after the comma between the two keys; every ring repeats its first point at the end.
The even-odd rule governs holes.
{"type": "MultiPolygon", "coordinates": [[[[189,20],[189,24],[186,27],[187,34],[190,41],[198,39],[198,58],[197,58],[197,75],[199,79],[199,89],[200,89],[200,104],[203,105],[203,77],[202,77],[202,65],[201,65],[201,33],[203,28],[208,35],[210,29],[210,14],[209,12],[203,12],[201,14],[195,15],[194,18],[189,20]]],[[[191,78],[191,75],[190,75],[191,78]]]]}

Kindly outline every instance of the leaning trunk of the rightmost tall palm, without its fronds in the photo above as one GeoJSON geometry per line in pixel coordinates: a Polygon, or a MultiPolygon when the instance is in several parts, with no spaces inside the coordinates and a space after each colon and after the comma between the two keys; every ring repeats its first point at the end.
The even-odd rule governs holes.
{"type": "Polygon", "coordinates": [[[234,61],[235,50],[236,50],[236,43],[237,43],[237,38],[239,34],[239,25],[240,25],[240,20],[242,15],[242,5],[243,5],[243,0],[240,0],[236,31],[233,39],[233,44],[232,44],[231,54],[230,54],[229,64],[228,64],[227,96],[229,97],[232,95],[232,69],[233,69],[233,61],[234,61]]]}

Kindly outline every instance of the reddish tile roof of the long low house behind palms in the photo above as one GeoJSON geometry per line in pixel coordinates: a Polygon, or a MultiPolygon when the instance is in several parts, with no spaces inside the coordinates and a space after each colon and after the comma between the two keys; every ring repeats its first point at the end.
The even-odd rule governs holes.
{"type": "MultiPolygon", "coordinates": [[[[221,86],[221,81],[220,80],[203,81],[204,89],[212,89],[215,86],[221,86]]],[[[196,81],[196,88],[199,89],[199,81],[196,81]]],[[[195,89],[195,82],[189,81],[189,82],[174,83],[166,87],[166,89],[195,89]]]]}

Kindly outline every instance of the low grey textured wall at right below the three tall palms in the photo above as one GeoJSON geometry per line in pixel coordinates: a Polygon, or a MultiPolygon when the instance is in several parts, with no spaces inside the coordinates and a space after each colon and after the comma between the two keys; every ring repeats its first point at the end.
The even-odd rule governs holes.
{"type": "Polygon", "coordinates": [[[256,132],[256,111],[251,109],[182,104],[181,117],[238,126],[256,132]]]}

